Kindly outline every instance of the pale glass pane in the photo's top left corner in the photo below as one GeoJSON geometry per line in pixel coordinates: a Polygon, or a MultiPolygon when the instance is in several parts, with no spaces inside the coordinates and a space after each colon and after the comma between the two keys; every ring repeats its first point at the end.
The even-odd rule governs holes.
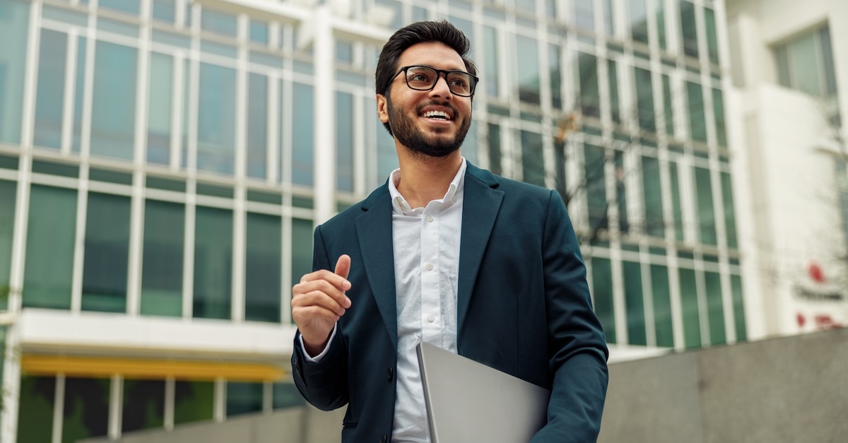
{"type": "Polygon", "coordinates": [[[20,143],[30,2],[8,0],[0,8],[0,142],[20,143]]]}

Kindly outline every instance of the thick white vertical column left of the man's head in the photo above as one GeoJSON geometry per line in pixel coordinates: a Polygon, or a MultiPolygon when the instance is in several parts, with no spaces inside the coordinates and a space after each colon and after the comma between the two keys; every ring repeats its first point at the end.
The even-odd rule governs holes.
{"type": "Polygon", "coordinates": [[[336,213],[335,40],[330,5],[315,11],[311,25],[315,32],[315,224],[319,224],[336,213]]]}

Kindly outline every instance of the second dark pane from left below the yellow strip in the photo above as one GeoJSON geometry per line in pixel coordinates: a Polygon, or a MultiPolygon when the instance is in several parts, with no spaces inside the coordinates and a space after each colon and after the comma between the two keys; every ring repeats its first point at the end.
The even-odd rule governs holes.
{"type": "Polygon", "coordinates": [[[65,379],[62,443],[106,435],[108,425],[109,379],[65,379]]]}

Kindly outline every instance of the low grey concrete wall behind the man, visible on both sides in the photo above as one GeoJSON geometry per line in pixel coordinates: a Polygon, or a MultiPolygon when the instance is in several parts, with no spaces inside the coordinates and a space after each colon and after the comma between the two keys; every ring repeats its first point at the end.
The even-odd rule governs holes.
{"type": "MultiPolygon", "coordinates": [[[[612,364],[599,441],[845,441],[846,412],[848,329],[840,329],[612,364]]],[[[342,417],[293,408],[119,441],[323,443],[339,440],[342,417]]]]}

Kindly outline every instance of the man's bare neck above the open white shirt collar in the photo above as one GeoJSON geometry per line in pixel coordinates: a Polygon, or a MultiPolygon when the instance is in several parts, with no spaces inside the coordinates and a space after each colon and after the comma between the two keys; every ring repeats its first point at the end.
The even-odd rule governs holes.
{"type": "Polygon", "coordinates": [[[413,208],[427,206],[432,200],[441,199],[448,192],[450,182],[462,165],[460,151],[446,157],[433,158],[401,153],[398,149],[400,182],[398,192],[413,208]]]}

